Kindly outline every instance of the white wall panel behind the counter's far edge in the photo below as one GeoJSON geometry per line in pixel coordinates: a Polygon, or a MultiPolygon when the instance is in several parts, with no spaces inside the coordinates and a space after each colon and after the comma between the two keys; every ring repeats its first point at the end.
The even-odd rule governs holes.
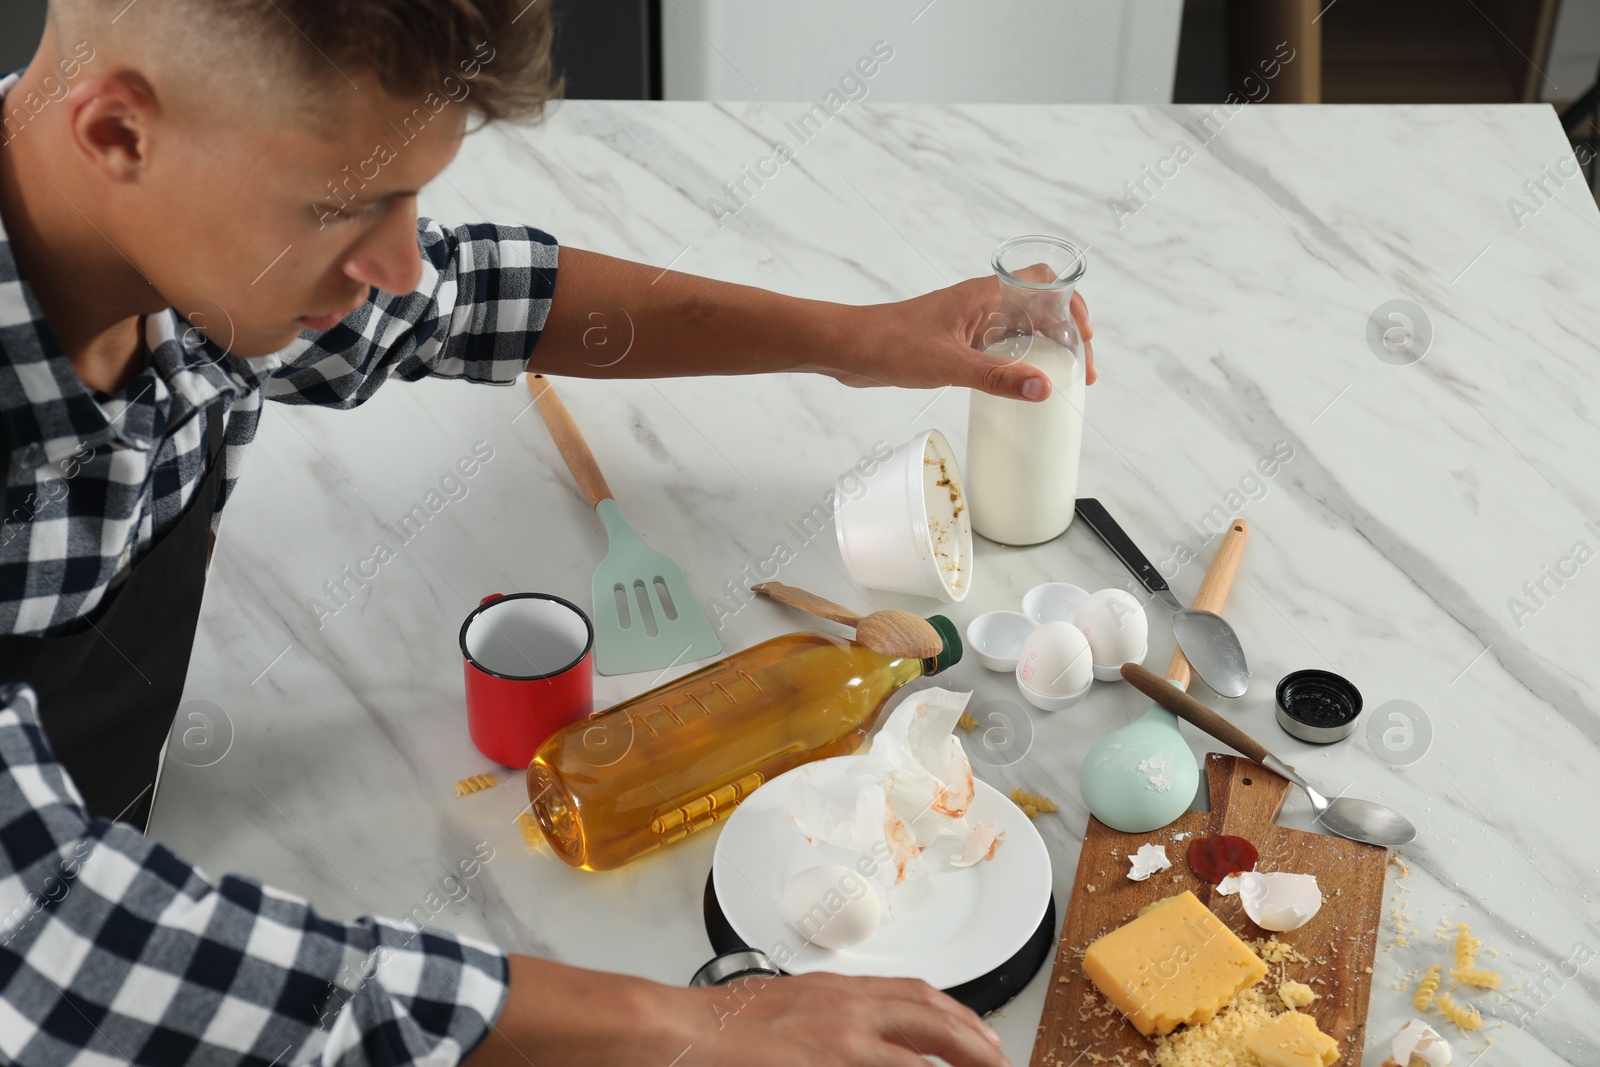
{"type": "Polygon", "coordinates": [[[667,99],[816,101],[886,42],[890,102],[1168,102],[1182,0],[662,0],[667,99]]]}

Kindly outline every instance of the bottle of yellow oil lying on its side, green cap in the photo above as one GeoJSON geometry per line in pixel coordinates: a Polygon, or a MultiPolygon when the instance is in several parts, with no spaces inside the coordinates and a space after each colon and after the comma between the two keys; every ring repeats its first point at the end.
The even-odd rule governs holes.
{"type": "Polygon", "coordinates": [[[890,696],[962,657],[955,624],[931,659],[832,633],[786,633],[573,723],[528,765],[533,816],[555,853],[611,870],[728,817],[784,771],[850,755],[890,696]]]}

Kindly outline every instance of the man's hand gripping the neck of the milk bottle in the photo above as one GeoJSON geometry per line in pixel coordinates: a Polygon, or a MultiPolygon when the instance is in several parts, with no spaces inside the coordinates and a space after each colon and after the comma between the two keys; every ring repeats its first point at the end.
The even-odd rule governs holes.
{"type": "MultiPolygon", "coordinates": [[[[1094,328],[1080,293],[1072,294],[1072,318],[1088,357],[1085,382],[1094,384],[1094,328]]],[[[987,355],[984,333],[1000,309],[1000,282],[970,278],[896,304],[859,310],[859,342],[832,366],[816,366],[846,386],[904,386],[934,389],[966,386],[1021,400],[1043,400],[1050,379],[1037,366],[1006,355],[987,355]],[[978,347],[974,347],[978,346],[978,347]]]]}

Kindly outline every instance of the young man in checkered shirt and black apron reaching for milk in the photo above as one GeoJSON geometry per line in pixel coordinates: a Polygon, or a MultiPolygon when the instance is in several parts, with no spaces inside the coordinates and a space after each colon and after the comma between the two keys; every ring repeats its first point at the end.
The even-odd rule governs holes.
{"type": "Polygon", "coordinates": [[[53,0],[0,80],[0,1059],[1003,1062],[920,982],[782,979],[726,1017],[707,990],[334,923],[134,829],[262,398],[528,370],[1048,395],[971,347],[992,280],[845,307],[419,221],[469,117],[555,91],[547,5],[523,5],[53,0]],[[634,350],[597,368],[589,312],[618,306],[634,350]]]}

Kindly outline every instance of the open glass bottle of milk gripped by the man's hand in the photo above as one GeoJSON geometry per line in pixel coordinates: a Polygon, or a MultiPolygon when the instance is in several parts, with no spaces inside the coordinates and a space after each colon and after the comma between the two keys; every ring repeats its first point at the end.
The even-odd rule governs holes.
{"type": "Polygon", "coordinates": [[[1038,544],[1072,525],[1085,357],[1069,302],[1086,267],[1083,250],[1059,237],[1013,237],[994,254],[1000,306],[978,346],[1037,366],[1051,386],[1043,402],[973,392],[966,499],[973,530],[1000,544],[1038,544]]]}

